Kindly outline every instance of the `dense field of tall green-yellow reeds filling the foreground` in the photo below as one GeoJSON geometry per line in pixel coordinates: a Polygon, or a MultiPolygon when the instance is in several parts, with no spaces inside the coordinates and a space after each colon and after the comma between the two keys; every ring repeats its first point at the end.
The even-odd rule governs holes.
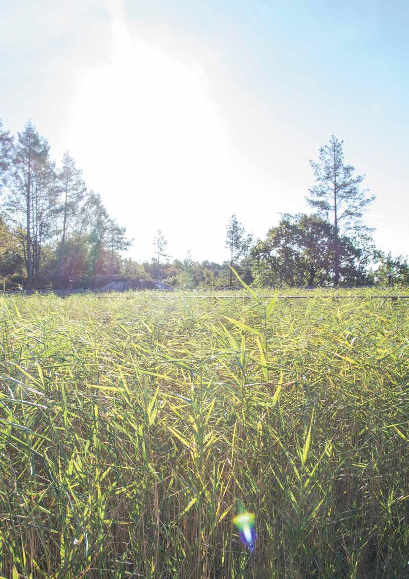
{"type": "Polygon", "coordinates": [[[409,300],[376,293],[0,296],[0,577],[409,577],[409,300]]]}

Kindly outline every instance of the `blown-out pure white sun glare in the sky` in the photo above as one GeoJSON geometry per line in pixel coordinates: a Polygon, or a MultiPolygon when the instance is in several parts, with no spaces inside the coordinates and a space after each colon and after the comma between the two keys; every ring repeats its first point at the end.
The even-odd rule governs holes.
{"type": "Polygon", "coordinates": [[[175,198],[185,204],[222,184],[224,131],[203,72],[133,35],[117,6],[110,15],[110,59],[83,69],[70,131],[83,135],[75,147],[85,177],[108,206],[114,193],[128,215],[135,200],[137,214],[155,204],[169,217],[175,198]]]}

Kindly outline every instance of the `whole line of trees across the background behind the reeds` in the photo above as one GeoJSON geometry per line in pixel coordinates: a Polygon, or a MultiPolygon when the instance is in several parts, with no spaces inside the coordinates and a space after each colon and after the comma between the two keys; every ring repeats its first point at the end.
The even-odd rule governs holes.
{"type": "Polygon", "coordinates": [[[167,281],[174,287],[232,286],[232,269],[259,286],[384,284],[409,282],[407,259],[375,247],[363,214],[374,196],[364,175],[344,161],[334,135],[310,161],[311,214],[282,214],[266,239],[254,240],[235,214],[226,227],[226,261],[169,261],[158,230],[154,256],[137,263],[124,256],[132,244],[108,214],[101,196],[88,189],[68,152],[60,165],[31,122],[14,135],[0,120],[0,281],[40,287],[58,278],[101,274],[167,281]]]}

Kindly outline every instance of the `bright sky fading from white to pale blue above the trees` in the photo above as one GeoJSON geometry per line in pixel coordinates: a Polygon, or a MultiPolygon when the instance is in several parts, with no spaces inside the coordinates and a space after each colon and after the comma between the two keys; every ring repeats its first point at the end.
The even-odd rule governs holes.
{"type": "Polygon", "coordinates": [[[255,239],[310,211],[332,134],[377,196],[365,221],[408,253],[409,3],[0,0],[0,118],[31,119],[151,259],[223,261],[235,213],[255,239]]]}

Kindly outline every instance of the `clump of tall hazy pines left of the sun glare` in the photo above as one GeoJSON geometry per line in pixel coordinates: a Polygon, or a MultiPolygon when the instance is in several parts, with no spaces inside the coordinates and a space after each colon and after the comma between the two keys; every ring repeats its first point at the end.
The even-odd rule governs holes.
{"type": "MultiPolygon", "coordinates": [[[[50,276],[118,273],[131,245],[68,152],[60,166],[31,122],[14,138],[0,122],[0,277],[28,287],[50,276]]],[[[142,269],[142,268],[141,268],[142,269]]]]}

